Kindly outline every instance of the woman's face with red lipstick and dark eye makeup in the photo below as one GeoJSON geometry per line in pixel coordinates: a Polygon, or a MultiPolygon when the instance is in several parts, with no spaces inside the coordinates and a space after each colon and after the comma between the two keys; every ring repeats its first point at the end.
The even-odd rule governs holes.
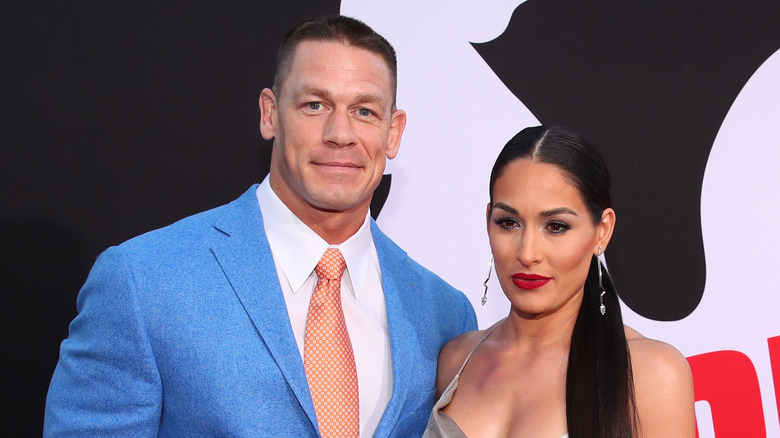
{"type": "Polygon", "coordinates": [[[606,249],[615,214],[594,224],[579,191],[552,164],[508,164],[493,187],[488,236],[496,275],[514,312],[578,312],[591,257],[606,249]]]}

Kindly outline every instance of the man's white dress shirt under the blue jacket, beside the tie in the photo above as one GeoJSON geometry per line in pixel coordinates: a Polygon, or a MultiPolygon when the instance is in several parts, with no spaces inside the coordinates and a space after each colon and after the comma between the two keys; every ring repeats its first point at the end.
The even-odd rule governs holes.
{"type": "Polygon", "coordinates": [[[341,304],[355,354],[360,435],[372,436],[390,400],[393,374],[382,273],[369,216],[352,237],[328,245],[284,205],[268,177],[257,188],[257,200],[301,358],[309,301],[317,284],[314,267],[329,247],[338,248],[347,262],[341,304]]]}

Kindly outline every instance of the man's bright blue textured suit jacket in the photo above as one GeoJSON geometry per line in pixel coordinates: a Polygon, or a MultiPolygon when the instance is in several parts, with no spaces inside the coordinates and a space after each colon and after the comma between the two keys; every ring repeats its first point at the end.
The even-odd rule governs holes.
{"type": "MultiPolygon", "coordinates": [[[[45,436],[318,436],[255,188],[101,254],[61,346],[45,436]]],[[[393,361],[374,436],[416,437],[439,349],[476,317],[371,226],[393,361]]]]}

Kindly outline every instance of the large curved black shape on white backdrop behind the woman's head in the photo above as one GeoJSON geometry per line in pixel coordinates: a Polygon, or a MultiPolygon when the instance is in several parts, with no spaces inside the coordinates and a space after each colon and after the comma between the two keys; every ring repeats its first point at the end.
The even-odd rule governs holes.
{"type": "Polygon", "coordinates": [[[474,47],[542,123],[601,147],[618,217],[607,260],[625,303],[661,321],[693,312],[707,158],[739,91],[780,47],[780,2],[530,0],[474,47]]]}

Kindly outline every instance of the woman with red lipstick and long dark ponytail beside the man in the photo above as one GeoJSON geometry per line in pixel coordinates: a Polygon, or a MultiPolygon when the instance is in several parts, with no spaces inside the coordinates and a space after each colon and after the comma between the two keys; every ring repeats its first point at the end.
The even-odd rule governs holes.
{"type": "Polygon", "coordinates": [[[596,148],[562,128],[524,129],[501,151],[487,230],[511,308],[442,349],[426,437],[695,436],[687,361],[623,325],[599,261],[609,184],[596,148]]]}

